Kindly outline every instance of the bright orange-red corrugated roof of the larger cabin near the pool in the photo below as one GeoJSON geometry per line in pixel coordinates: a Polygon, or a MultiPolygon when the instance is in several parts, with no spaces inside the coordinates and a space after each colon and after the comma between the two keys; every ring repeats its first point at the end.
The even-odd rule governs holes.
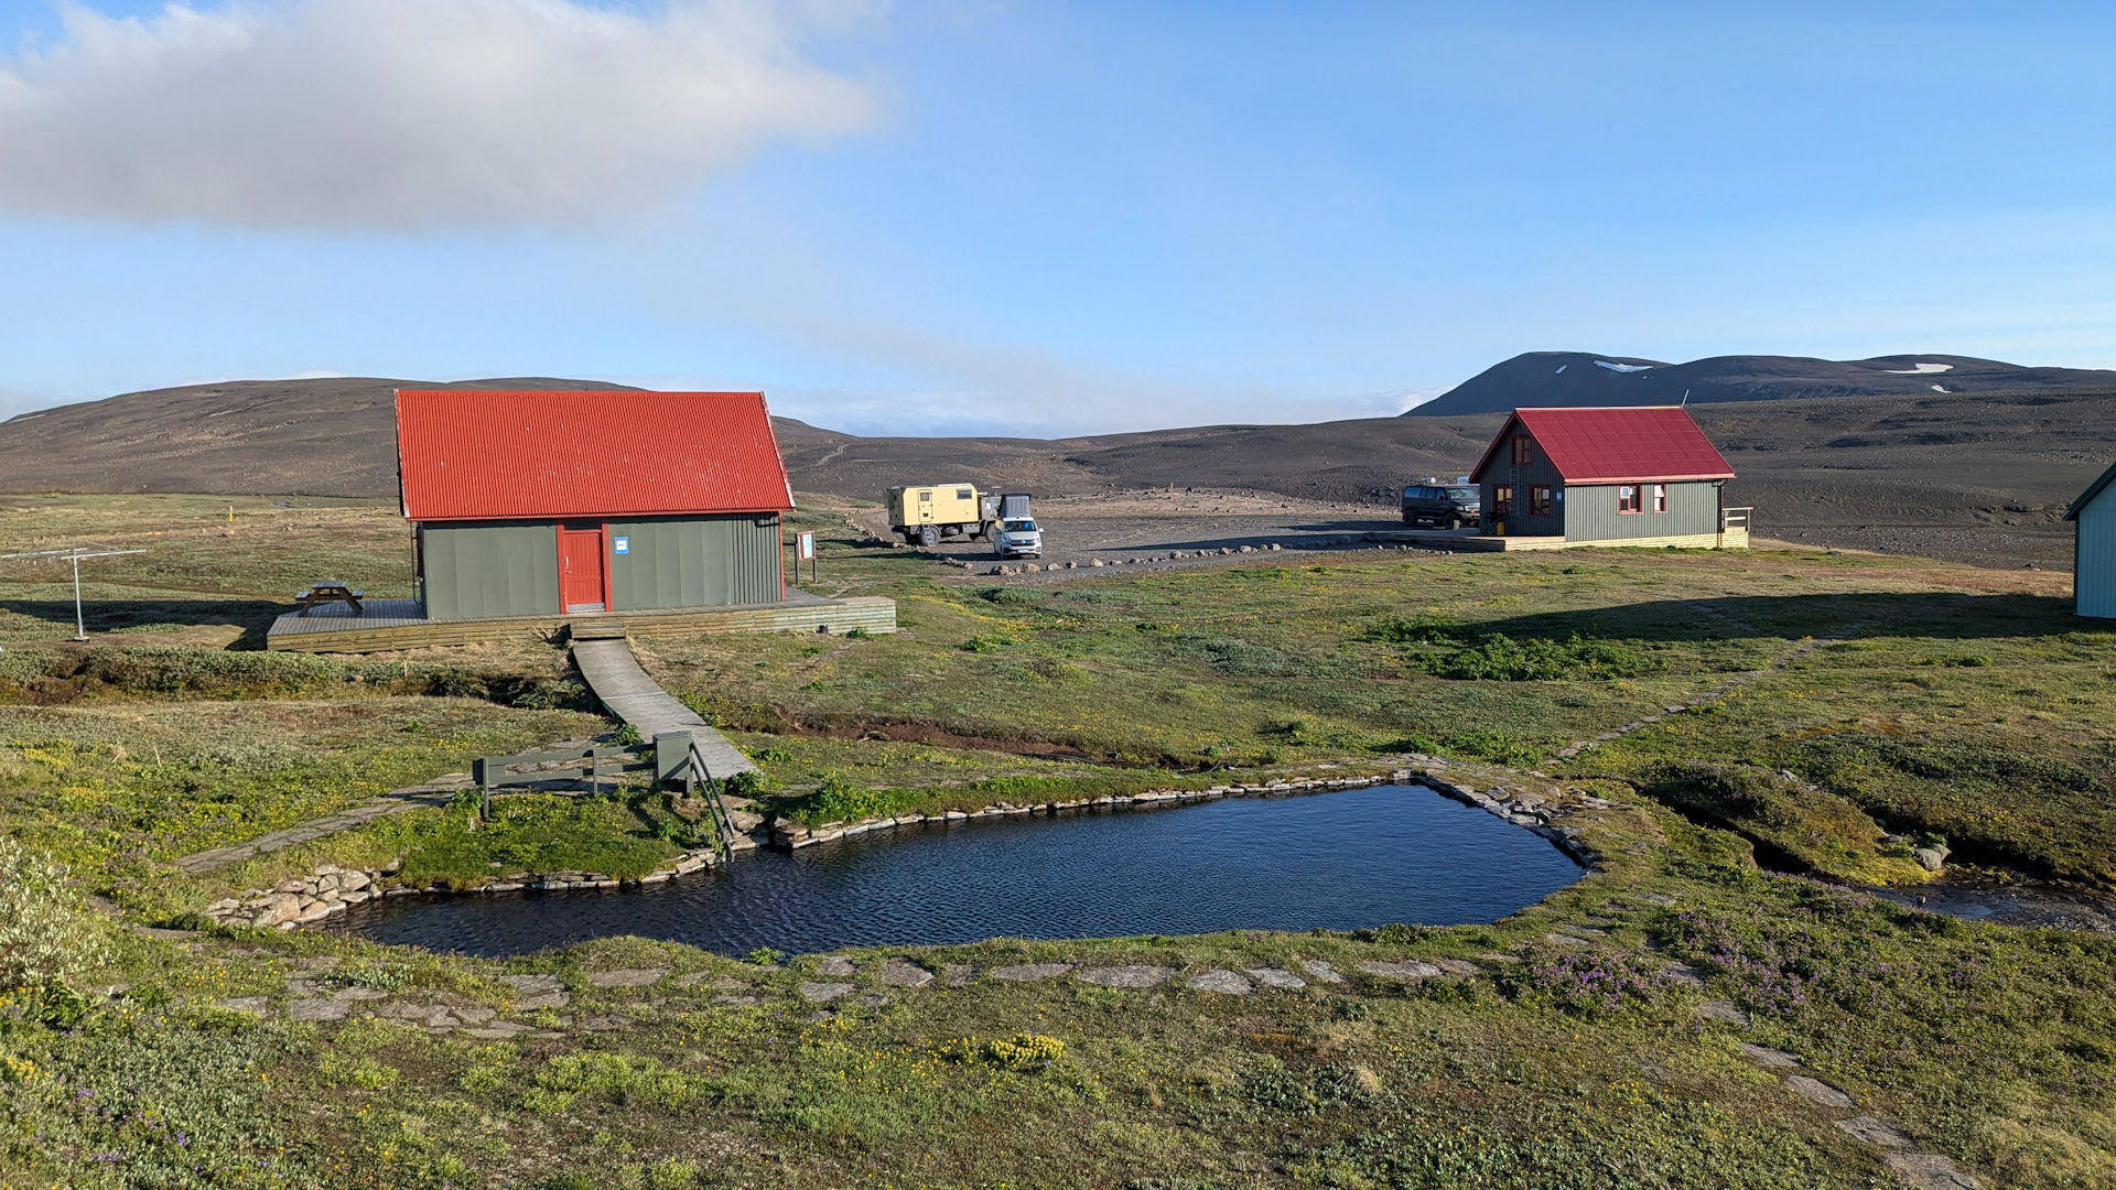
{"type": "Polygon", "coordinates": [[[794,506],[762,392],[398,390],[411,521],[794,506]]]}

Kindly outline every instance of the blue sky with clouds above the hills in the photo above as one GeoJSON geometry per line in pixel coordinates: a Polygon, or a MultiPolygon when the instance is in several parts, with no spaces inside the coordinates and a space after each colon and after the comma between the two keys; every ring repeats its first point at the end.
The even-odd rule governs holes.
{"type": "Polygon", "coordinates": [[[231,377],[855,432],[1530,349],[2116,366],[2108,4],[0,0],[0,415],[231,377]]]}

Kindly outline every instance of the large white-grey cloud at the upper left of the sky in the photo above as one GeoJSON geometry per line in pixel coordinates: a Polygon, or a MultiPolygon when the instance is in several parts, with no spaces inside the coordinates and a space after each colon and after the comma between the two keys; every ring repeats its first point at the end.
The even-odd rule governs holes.
{"type": "MultiPolygon", "coordinates": [[[[229,0],[0,59],[0,205],[118,220],[567,224],[681,197],[777,140],[870,127],[804,57],[857,0],[229,0]]],[[[870,19],[861,19],[861,15],[870,19]]]]}

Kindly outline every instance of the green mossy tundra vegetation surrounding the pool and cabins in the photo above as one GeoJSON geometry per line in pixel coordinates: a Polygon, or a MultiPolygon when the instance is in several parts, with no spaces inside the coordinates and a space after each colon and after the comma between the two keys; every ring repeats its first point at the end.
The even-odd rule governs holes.
{"type": "Polygon", "coordinates": [[[148,553],[89,563],[87,646],[63,642],[63,574],[0,572],[0,1184],[1896,1184],[1837,1126],[1849,1110],[1792,1095],[1750,1044],[1987,1186],[2116,1186],[2116,940],[1866,889],[1928,879],[1911,851],[1938,839],[1991,881],[2116,885],[2116,639],[2069,614],[2063,576],[1758,548],[995,584],[861,546],[813,504],[821,589],[895,597],[904,631],[635,637],[785,819],[1433,754],[1604,798],[1581,819],[1602,864],[1492,925],[853,951],[865,997],[823,1012],[798,995],[817,955],[607,938],[482,961],[201,930],[214,898],[322,864],[626,875],[686,826],[641,788],[508,796],[485,830],[421,807],[184,875],[182,855],[614,724],[531,637],[258,652],[307,580],[406,591],[389,508],[11,498],[0,553],[148,553]],[[937,978],[882,982],[889,959],[937,978]],[[1354,974],[1403,959],[1456,978],[1354,974]],[[1308,961],[1346,982],[1185,982],[1308,961]],[[1176,978],[990,978],[1022,963],[1176,978]],[[296,995],[355,1010],[296,1021],[296,995]],[[531,1031],[360,1010],[391,1004],[531,1031]]]}

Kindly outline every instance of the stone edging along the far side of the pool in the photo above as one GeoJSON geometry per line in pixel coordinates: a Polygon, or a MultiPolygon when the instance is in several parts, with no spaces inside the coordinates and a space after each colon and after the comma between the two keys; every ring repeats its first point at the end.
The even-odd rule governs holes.
{"type": "MultiPolygon", "coordinates": [[[[1413,756],[1416,764],[1411,769],[1397,769],[1380,777],[1293,777],[1282,781],[1265,781],[1261,786],[1234,783],[1234,786],[1212,786],[1206,790],[1147,790],[1143,794],[1113,796],[1105,794],[1098,798],[1075,798],[1064,803],[1039,803],[1039,805],[1011,805],[997,803],[975,811],[944,811],[944,813],[912,813],[897,817],[874,817],[853,824],[825,824],[819,828],[791,826],[772,828],[772,843],[779,847],[796,849],[810,847],[815,843],[829,843],[834,839],[851,839],[857,834],[870,834],[876,830],[893,830],[897,826],[920,826],[929,822],[950,824],[950,822],[971,822],[980,817],[1009,817],[1009,815],[1058,815],[1064,811],[1102,811],[1102,809],[1132,809],[1149,805],[1181,805],[1181,803],[1202,803],[1217,798],[1257,798],[1257,796],[1291,796],[1291,794],[1322,794],[1331,790],[1358,790],[1369,786],[1426,786],[1428,790],[1454,798],[1464,805],[1473,805],[1494,817],[1504,817],[1507,822],[1534,830],[1536,834],[1549,839],[1559,851],[1570,855],[1583,868],[1595,868],[1602,855],[1587,847],[1583,832],[1576,826],[1557,826],[1553,819],[1566,817],[1576,809],[1608,809],[1602,798],[1574,794],[1564,798],[1559,794],[1562,786],[1555,779],[1543,777],[1540,773],[1524,773],[1521,777],[1549,781],[1553,796],[1536,792],[1513,792],[1507,786],[1490,786],[1477,790],[1475,786],[1452,781],[1441,775],[1449,764],[1433,756],[1413,756]]],[[[1485,771],[1479,767],[1479,771],[1485,771]]],[[[755,843],[749,839],[736,841],[741,849],[753,849],[755,843]]],[[[463,889],[444,885],[387,885],[398,872],[398,862],[385,864],[381,868],[339,868],[326,864],[317,868],[311,877],[294,877],[273,885],[271,889],[248,889],[241,896],[222,898],[205,906],[205,917],[216,925],[248,925],[254,930],[294,930],[300,925],[315,925],[336,913],[345,913],[355,904],[385,896],[413,896],[413,894],[501,894],[501,891],[559,891],[559,889],[620,889],[620,887],[641,887],[658,885],[675,877],[688,877],[705,868],[717,866],[717,855],[709,847],[694,851],[683,851],[673,860],[664,860],[656,870],[643,877],[609,877],[603,872],[510,872],[506,879],[491,881],[485,885],[472,885],[463,889]],[[387,885],[387,887],[385,887],[387,885]]]]}

